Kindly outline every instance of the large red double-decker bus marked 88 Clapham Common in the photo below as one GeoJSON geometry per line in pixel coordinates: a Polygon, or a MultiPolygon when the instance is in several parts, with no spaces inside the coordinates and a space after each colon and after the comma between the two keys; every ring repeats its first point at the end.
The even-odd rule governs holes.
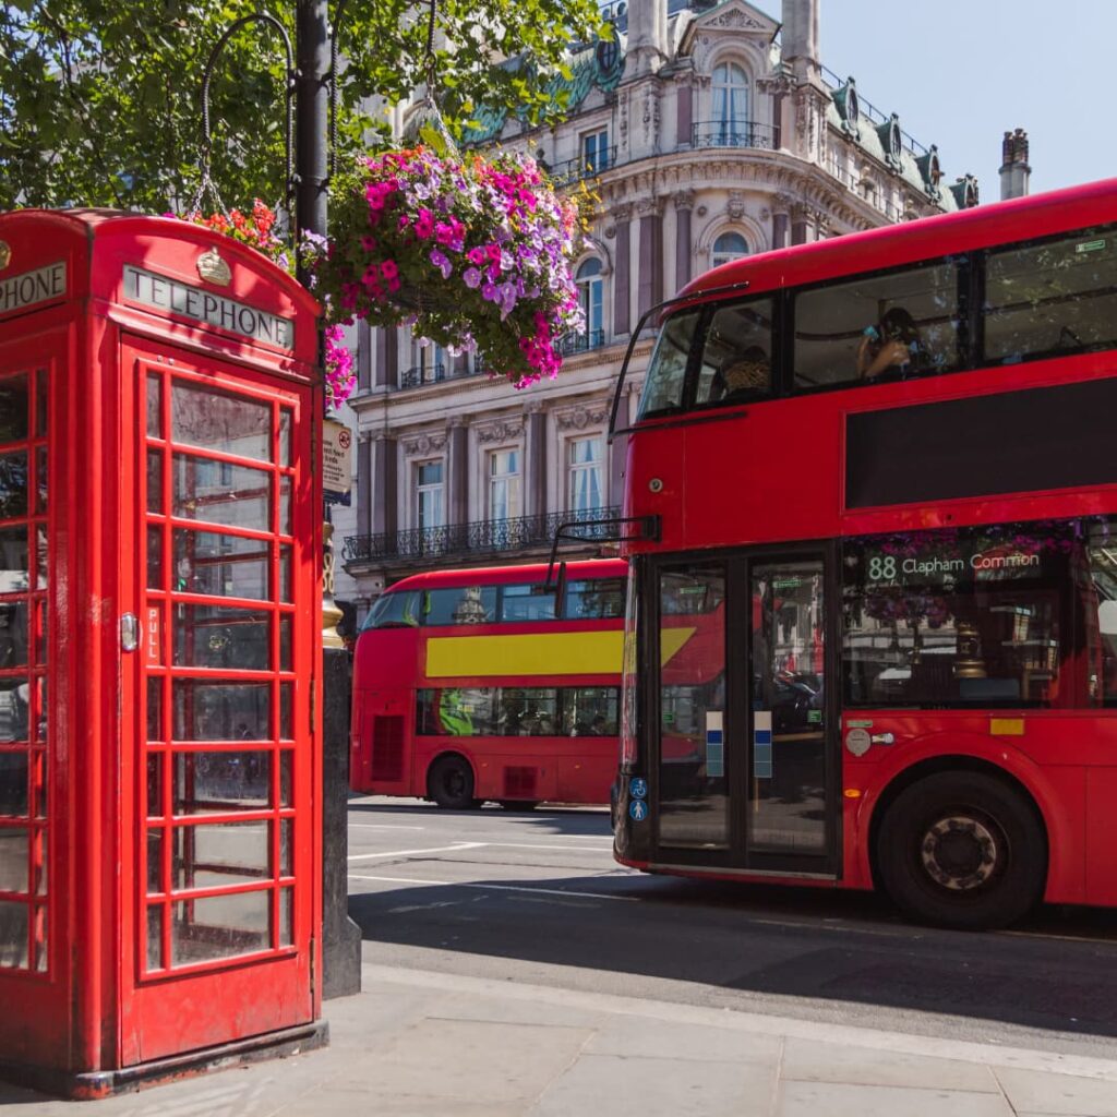
{"type": "Polygon", "coordinates": [[[618,859],[956,927],[1117,904],[1117,180],[658,313],[618,859]]]}

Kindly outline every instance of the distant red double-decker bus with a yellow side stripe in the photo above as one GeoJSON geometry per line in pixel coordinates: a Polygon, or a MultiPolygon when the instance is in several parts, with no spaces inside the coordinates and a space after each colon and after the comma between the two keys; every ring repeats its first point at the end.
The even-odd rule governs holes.
{"type": "Polygon", "coordinates": [[[607,803],[617,774],[627,564],[416,574],[356,641],[354,791],[465,809],[607,803]],[[557,608],[557,611],[556,611],[557,608]]]}

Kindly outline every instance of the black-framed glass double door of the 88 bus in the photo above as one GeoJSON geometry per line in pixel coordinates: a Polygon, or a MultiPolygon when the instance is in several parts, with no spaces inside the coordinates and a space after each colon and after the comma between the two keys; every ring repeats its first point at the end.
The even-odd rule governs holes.
{"type": "Polygon", "coordinates": [[[657,861],[836,871],[830,570],[815,548],[655,571],[657,861]]]}

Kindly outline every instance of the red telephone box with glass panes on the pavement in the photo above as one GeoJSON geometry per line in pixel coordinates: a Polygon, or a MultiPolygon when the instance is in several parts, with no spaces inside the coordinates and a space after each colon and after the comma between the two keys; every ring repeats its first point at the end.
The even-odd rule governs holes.
{"type": "Polygon", "coordinates": [[[0,1070],[323,1042],[317,307],[229,238],[0,214],[0,1070]]]}

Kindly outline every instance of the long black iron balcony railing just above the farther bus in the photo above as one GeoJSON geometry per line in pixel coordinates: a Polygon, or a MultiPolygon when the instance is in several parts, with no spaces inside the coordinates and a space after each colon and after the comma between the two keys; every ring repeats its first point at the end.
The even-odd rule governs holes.
{"type": "MultiPolygon", "coordinates": [[[[620,514],[621,509],[615,507],[579,513],[582,540],[592,542],[615,537],[615,522],[620,514]],[[595,529],[599,525],[600,531],[595,529]]],[[[548,512],[515,519],[476,519],[469,524],[412,527],[380,535],[350,535],[342,547],[342,557],[346,562],[382,562],[550,546],[558,525],[569,523],[572,515],[569,512],[548,512]]]]}

